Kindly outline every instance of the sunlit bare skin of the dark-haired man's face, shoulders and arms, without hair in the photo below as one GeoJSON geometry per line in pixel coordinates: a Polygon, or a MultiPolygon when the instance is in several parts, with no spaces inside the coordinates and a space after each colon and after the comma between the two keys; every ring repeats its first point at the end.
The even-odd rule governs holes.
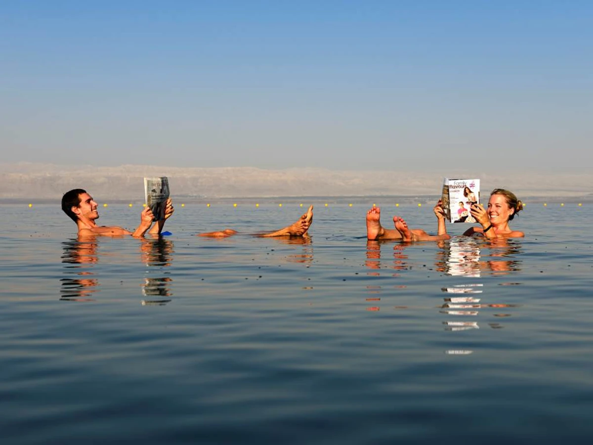
{"type": "Polygon", "coordinates": [[[98,213],[98,204],[94,201],[93,196],[89,195],[88,193],[81,193],[78,195],[80,202],[78,206],[72,206],[72,212],[78,218],[76,220],[76,225],[78,226],[78,234],[81,236],[89,236],[89,235],[103,235],[103,236],[122,236],[122,235],[132,235],[136,238],[144,237],[146,232],[151,234],[158,234],[161,233],[162,227],[164,225],[165,220],[167,220],[171,215],[173,215],[174,208],[173,202],[169,198],[167,200],[167,206],[165,208],[165,220],[157,221],[152,229],[152,222],[154,220],[154,215],[152,215],[151,209],[146,206],[140,215],[140,225],[136,228],[135,231],[130,232],[125,228],[111,225],[97,225],[96,220],[99,218],[98,213]],[[150,231],[149,231],[150,230],[150,231]]]}

